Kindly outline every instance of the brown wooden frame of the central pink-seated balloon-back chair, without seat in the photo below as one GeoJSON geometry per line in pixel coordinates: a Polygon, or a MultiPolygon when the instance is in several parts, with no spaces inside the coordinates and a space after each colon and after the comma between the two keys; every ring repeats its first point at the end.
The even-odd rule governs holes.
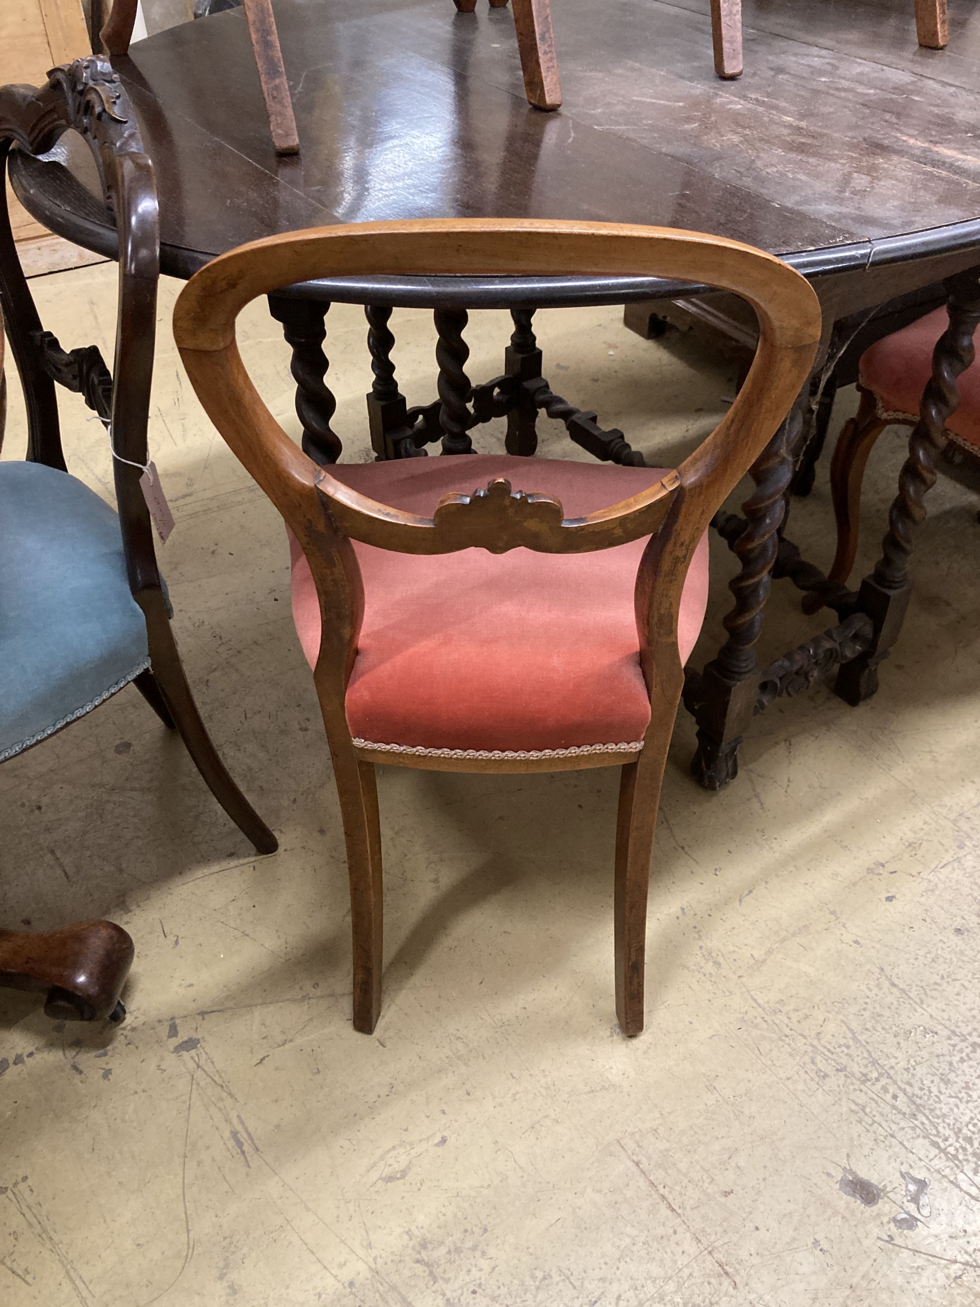
{"type": "MultiPolygon", "coordinates": [[[[321,227],[242,246],[184,286],[174,337],[191,382],[231,450],[280,510],[310,563],[323,635],[314,680],[340,795],[350,872],[354,1026],[374,1030],[382,996],[382,846],[375,763],[440,771],[555,771],[622,765],[615,844],[615,992],[627,1035],[643,1029],[649,861],[660,784],[683,681],[677,623],[687,569],[712,514],[771,439],[805,384],[821,335],[811,286],[780,260],[716,237],[656,227],[534,220],[419,220],[321,227]],[[235,319],[260,295],[324,276],[604,274],[707,282],[747,299],[759,344],[716,430],[642,494],[581,519],[504,481],[447,495],[434,516],[366,498],[308,459],[246,372],[235,319]],[[363,588],[351,540],[404,553],[608,549],[649,536],[636,575],[636,630],[651,723],[640,750],[562,758],[447,759],[358,745],[345,715],[363,588]],[[656,584],[655,584],[656,582],[656,584]]],[[[534,464],[528,464],[533,486],[534,464]]]]}

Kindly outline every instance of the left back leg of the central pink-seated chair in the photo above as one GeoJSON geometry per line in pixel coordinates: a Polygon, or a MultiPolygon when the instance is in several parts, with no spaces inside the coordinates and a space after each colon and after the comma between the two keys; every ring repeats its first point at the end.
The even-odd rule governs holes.
{"type": "Polygon", "coordinates": [[[344,843],[350,877],[350,935],[354,955],[354,1030],[370,1035],[382,1013],[384,898],[382,827],[374,763],[335,753],[344,843]]]}

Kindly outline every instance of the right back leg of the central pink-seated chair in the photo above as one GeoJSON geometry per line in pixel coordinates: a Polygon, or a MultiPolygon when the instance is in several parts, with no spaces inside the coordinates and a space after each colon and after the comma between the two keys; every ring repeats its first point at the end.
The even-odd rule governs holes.
{"type": "MultiPolygon", "coordinates": [[[[678,687],[679,697],[679,687],[678,687]]],[[[677,707],[674,706],[674,715],[677,707]]],[[[619,778],[615,829],[615,1014],[625,1035],[643,1030],[647,962],[647,893],[657,829],[660,784],[673,732],[673,715],[661,740],[647,737],[636,762],[619,778]]]]}

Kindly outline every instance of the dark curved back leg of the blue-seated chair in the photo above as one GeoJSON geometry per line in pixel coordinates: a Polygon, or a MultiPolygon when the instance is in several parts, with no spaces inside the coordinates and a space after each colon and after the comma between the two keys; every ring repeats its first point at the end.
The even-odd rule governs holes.
{"type": "Polygon", "coordinates": [[[157,689],[208,789],[259,853],[274,853],[278,840],[229,775],[201,721],[162,599],[146,612],[146,631],[157,689]]]}

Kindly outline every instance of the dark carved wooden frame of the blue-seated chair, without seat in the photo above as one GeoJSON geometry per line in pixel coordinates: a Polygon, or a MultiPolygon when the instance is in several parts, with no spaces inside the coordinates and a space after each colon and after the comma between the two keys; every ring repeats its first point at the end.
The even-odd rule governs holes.
{"type": "Polygon", "coordinates": [[[55,383],[85,397],[110,425],[119,527],[129,589],[146,620],[150,668],[135,685],[170,729],[179,731],[208,788],[263,853],[276,838],[229,775],[201,721],[170,626],[140,486],[148,461],[146,425],[153,379],[159,281],[157,187],[136,115],[112,68],[98,58],[55,68],[46,86],[0,89],[0,307],[27,408],[27,460],[65,472],[55,383]],[[94,346],[63,350],[43,331],[27,288],[7,208],[7,158],[17,145],[50,150],[73,129],[95,159],[119,235],[119,314],[114,375],[94,346]]]}

